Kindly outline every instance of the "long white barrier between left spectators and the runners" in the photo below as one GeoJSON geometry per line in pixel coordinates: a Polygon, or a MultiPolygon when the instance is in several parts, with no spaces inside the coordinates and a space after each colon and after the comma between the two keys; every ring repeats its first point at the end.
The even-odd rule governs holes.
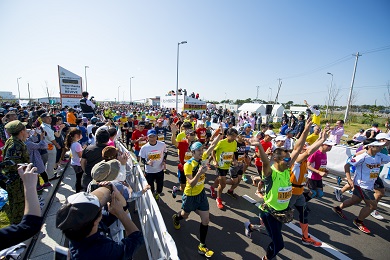
{"type": "MultiPolygon", "coordinates": [[[[120,142],[116,144],[121,152],[128,153],[120,142]]],[[[136,159],[130,156],[131,160],[126,167],[126,180],[133,184],[134,191],[140,191],[148,183],[136,159]]],[[[179,259],[175,241],[167,231],[160,209],[150,190],[136,200],[136,207],[149,259],[179,259]]]]}

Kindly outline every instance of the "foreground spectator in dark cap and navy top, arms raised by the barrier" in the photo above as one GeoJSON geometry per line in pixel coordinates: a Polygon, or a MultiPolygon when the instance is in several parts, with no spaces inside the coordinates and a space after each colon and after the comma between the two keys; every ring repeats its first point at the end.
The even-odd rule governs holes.
{"type": "Polygon", "coordinates": [[[110,185],[110,189],[100,187],[90,194],[71,195],[58,210],[56,226],[69,239],[71,259],[132,259],[144,243],[142,233],[123,210],[126,203],[123,196],[115,185],[110,185]],[[107,220],[101,209],[106,205],[125,229],[126,237],[120,242],[114,242],[99,232],[99,223],[107,220]]]}

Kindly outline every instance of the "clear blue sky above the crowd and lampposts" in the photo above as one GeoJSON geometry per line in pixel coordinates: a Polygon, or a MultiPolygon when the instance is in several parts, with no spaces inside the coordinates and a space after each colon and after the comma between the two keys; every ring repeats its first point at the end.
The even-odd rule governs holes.
{"type": "Polygon", "coordinates": [[[201,98],[324,104],[334,75],[345,105],[355,58],[357,104],[384,104],[390,84],[390,1],[1,1],[0,89],[59,96],[57,65],[97,100],[179,87],[201,98]],[[384,47],[381,49],[381,47],[384,47]],[[373,51],[372,50],[382,50],[373,51]],[[336,62],[340,61],[340,62],[336,62]],[[331,65],[331,66],[325,66],[331,65]]]}

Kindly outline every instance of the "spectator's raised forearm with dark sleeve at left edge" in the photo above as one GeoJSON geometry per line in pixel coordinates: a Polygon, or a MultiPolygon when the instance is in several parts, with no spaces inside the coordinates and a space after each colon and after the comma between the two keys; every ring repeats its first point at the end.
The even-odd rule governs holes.
{"type": "Polygon", "coordinates": [[[29,239],[42,227],[43,218],[36,190],[38,181],[36,170],[32,163],[26,168],[24,166],[18,168],[18,175],[24,187],[24,215],[20,223],[0,229],[0,250],[29,239]]]}

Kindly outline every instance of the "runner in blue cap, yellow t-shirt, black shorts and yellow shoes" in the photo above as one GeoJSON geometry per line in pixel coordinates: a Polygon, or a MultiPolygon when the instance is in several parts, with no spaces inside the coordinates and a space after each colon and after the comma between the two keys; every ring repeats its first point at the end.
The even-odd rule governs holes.
{"type": "Polygon", "coordinates": [[[219,140],[211,143],[206,152],[203,152],[203,146],[200,142],[191,145],[192,158],[184,165],[184,173],[187,179],[184,194],[182,196],[182,210],[173,214],[173,226],[180,229],[180,220],[187,219],[192,211],[195,211],[201,219],[199,228],[198,253],[206,257],[212,257],[214,252],[206,246],[206,236],[209,225],[209,203],[204,190],[207,166],[202,159],[206,159],[219,140]]]}

